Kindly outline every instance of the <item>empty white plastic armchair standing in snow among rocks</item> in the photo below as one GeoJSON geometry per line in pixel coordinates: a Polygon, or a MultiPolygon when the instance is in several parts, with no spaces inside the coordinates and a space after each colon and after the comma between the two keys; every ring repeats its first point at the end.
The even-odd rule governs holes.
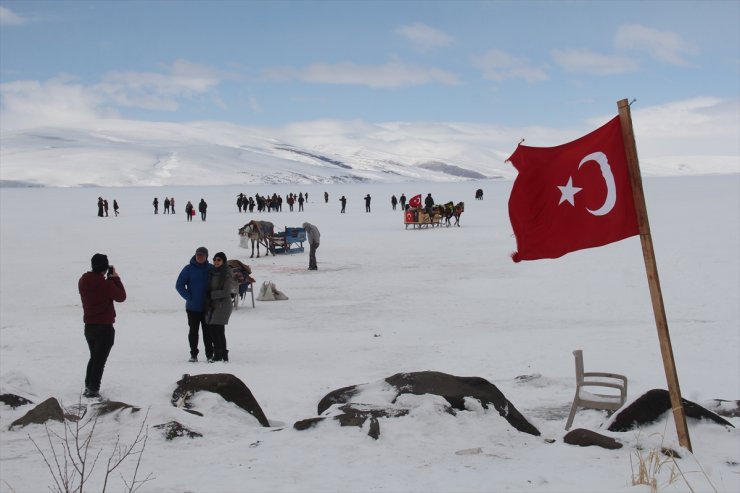
{"type": "Polygon", "coordinates": [[[583,351],[576,349],[573,351],[576,358],[576,395],[573,398],[573,405],[570,408],[568,422],[565,429],[569,430],[573,424],[573,418],[579,407],[584,409],[605,409],[607,411],[616,411],[624,405],[627,400],[627,377],[616,373],[604,372],[584,372],[583,371],[583,351]],[[617,389],[616,393],[597,394],[589,392],[587,387],[606,387],[617,389]]]}

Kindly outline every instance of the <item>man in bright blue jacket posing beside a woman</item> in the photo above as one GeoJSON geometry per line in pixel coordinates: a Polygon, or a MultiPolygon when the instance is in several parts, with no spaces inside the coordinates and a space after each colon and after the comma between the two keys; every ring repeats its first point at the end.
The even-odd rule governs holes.
{"type": "Polygon", "coordinates": [[[182,268],[177,276],[175,288],[185,300],[185,313],[188,315],[188,342],[190,343],[190,361],[198,361],[198,330],[203,330],[203,346],[206,359],[213,359],[213,341],[206,323],[206,298],[208,291],[208,271],[212,265],[208,262],[208,249],[198,247],[190,263],[182,268]]]}

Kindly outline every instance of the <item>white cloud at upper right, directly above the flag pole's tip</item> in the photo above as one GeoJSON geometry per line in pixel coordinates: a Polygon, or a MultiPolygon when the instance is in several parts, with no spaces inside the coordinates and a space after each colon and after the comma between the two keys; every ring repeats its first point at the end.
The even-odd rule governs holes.
{"type": "Polygon", "coordinates": [[[686,56],[698,52],[675,33],[657,31],[639,24],[620,26],[614,38],[619,50],[647,52],[654,59],[671,65],[687,66],[686,56]]]}

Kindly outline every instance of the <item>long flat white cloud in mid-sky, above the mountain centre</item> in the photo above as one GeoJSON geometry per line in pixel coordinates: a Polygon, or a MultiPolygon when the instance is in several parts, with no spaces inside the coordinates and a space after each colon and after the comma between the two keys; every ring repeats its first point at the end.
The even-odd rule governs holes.
{"type": "Polygon", "coordinates": [[[314,63],[304,69],[274,67],[263,72],[272,80],[298,79],[315,84],[349,84],[373,88],[395,88],[422,84],[459,84],[457,76],[442,69],[402,62],[358,65],[352,62],[314,63]]]}

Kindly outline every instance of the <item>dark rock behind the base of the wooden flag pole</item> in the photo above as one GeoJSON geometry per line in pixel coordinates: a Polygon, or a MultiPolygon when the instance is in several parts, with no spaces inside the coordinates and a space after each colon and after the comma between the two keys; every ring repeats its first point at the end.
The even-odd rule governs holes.
{"type": "MultiPolygon", "coordinates": [[[[689,418],[708,419],[717,424],[734,428],[732,423],[695,402],[683,398],[681,402],[683,403],[684,414],[689,418]]],[[[618,411],[608,429],[609,431],[629,431],[640,425],[654,422],[670,409],[671,397],[668,391],[652,389],[645,392],[626,408],[618,411]]]]}

